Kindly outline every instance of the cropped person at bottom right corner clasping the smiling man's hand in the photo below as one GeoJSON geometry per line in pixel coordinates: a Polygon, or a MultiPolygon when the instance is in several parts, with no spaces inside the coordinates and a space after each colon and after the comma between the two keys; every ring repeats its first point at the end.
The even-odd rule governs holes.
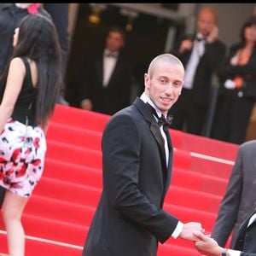
{"type": "Polygon", "coordinates": [[[195,248],[209,256],[256,256],[256,212],[254,211],[241,224],[234,249],[218,246],[218,242],[209,236],[195,232],[199,241],[195,241],[195,248]]]}

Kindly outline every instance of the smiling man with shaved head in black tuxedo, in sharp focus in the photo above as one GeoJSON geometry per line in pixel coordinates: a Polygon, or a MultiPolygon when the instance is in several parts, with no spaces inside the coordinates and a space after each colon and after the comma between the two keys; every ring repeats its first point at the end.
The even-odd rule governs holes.
{"type": "MultiPolygon", "coordinates": [[[[163,210],[172,177],[172,141],[163,119],[177,101],[184,69],[158,55],[144,74],[145,90],[115,113],[102,135],[103,189],[83,256],[156,256],[170,236],[194,241],[200,223],[183,224],[163,210]]],[[[170,123],[169,123],[170,125],[170,123]]]]}

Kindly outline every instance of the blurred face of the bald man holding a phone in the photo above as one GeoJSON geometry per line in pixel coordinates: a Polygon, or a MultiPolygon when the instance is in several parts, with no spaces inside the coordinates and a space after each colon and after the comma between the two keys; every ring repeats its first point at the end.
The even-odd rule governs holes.
{"type": "Polygon", "coordinates": [[[209,10],[201,11],[197,20],[198,31],[204,37],[207,37],[212,32],[213,27],[216,26],[216,17],[209,10]]]}

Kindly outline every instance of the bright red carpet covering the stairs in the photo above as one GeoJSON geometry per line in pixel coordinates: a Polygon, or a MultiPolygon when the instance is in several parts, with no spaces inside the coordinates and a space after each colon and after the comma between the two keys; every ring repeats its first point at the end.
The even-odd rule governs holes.
{"type": "MultiPolygon", "coordinates": [[[[44,175],[22,219],[26,256],[80,256],[102,189],[101,139],[109,116],[58,105],[47,133],[44,175]]],[[[171,130],[172,185],[165,209],[211,232],[237,145],[171,130]]],[[[7,253],[0,218],[0,253],[7,253]]],[[[158,256],[193,256],[192,242],[170,238],[158,256]]],[[[102,255],[103,256],[103,255],[102,255]]]]}

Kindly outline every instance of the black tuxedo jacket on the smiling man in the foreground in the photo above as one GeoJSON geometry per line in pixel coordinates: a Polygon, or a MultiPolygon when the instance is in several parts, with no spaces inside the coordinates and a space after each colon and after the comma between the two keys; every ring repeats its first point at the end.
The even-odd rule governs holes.
{"type": "Polygon", "coordinates": [[[172,174],[160,129],[139,98],[113,115],[102,136],[103,189],[83,256],[155,256],[178,219],[162,210],[172,174]]]}

